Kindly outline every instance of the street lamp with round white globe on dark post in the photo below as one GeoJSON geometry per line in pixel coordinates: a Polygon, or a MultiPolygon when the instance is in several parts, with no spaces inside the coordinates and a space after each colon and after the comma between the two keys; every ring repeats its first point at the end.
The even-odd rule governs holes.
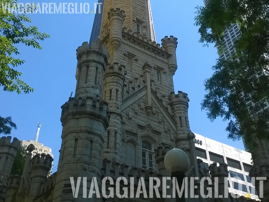
{"type": "MultiPolygon", "coordinates": [[[[189,157],[181,149],[171,149],[166,153],[164,157],[164,167],[167,171],[171,173],[171,177],[176,177],[178,181],[178,186],[180,188],[185,177],[185,172],[189,168],[189,157]]],[[[176,201],[178,202],[185,201],[184,190],[181,198],[179,198],[178,194],[176,196],[177,196],[176,201]]]]}

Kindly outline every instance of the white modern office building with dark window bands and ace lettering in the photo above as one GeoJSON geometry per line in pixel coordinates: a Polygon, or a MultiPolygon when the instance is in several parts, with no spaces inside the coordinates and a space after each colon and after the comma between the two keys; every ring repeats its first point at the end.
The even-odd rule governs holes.
{"type": "Polygon", "coordinates": [[[251,154],[249,152],[225,145],[197,133],[195,133],[194,142],[197,159],[203,160],[204,168],[208,168],[213,162],[226,163],[228,165],[229,192],[241,196],[250,194],[252,199],[259,201],[256,189],[254,192],[252,191],[253,185],[249,177],[252,166],[251,154]]]}

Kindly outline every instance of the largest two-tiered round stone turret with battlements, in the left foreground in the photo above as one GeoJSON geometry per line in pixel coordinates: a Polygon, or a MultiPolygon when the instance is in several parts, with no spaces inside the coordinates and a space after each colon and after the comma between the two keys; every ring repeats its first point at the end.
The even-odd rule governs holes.
{"type": "MultiPolygon", "coordinates": [[[[84,42],[77,49],[75,97],[62,105],[62,145],[53,196],[55,202],[74,198],[70,177],[100,180],[102,149],[110,117],[108,104],[101,96],[107,57],[106,47],[100,45],[98,48],[98,42],[93,42],[91,48],[84,42]]],[[[87,184],[89,189],[91,183],[87,184]]],[[[82,196],[82,183],[80,186],[77,200],[88,201],[82,196]]]]}

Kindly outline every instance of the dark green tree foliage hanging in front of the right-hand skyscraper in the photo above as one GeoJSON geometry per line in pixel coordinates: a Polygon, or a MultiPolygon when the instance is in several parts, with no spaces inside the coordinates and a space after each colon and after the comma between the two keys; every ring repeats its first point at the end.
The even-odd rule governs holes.
{"type": "Polygon", "coordinates": [[[225,30],[237,23],[241,31],[231,59],[218,59],[213,75],[205,80],[202,109],[211,121],[229,121],[228,138],[244,135],[247,146],[255,148],[255,139],[269,139],[264,104],[269,100],[269,0],[210,0],[207,7],[196,9],[200,42],[215,43],[220,53],[226,51],[225,30]]]}

